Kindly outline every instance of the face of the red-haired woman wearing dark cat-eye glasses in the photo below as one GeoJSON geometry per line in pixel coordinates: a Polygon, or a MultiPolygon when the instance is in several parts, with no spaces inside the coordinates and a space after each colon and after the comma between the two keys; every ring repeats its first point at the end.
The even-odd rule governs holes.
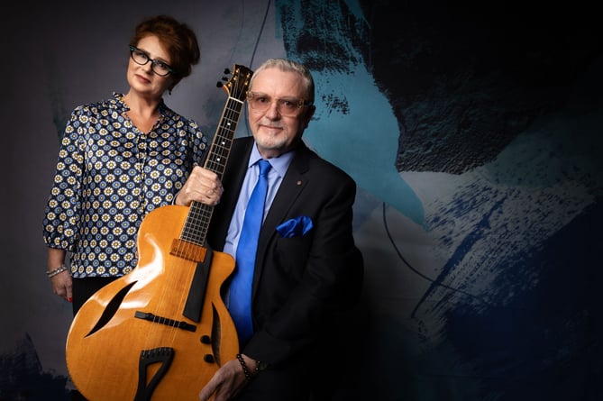
{"type": "MultiPolygon", "coordinates": [[[[157,36],[145,36],[138,42],[136,48],[142,50],[151,60],[160,60],[165,64],[170,64],[169,53],[161,45],[157,36]]],[[[165,77],[155,74],[151,68],[151,60],[142,66],[131,57],[128,63],[127,79],[132,90],[139,95],[158,99],[169,88],[173,78],[171,74],[165,77]]]]}

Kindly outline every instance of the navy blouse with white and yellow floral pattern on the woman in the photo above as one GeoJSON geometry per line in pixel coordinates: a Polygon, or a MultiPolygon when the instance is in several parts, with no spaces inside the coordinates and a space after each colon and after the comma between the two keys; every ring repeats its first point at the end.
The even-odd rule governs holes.
{"type": "Polygon", "coordinates": [[[172,203],[207,140],[161,102],[151,132],[125,116],[123,95],[78,106],[69,119],[44,216],[44,242],[71,252],[74,278],[123,276],[136,267],[146,214],[172,203]]]}

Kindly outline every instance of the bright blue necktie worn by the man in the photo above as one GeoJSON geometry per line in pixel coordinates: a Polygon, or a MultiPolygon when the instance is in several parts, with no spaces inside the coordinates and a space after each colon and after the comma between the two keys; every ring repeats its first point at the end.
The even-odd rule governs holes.
{"type": "Polygon", "coordinates": [[[260,178],[251,192],[242,223],[241,237],[236,250],[236,271],[230,286],[228,309],[239,334],[239,342],[246,343],[253,334],[251,323],[251,282],[255,266],[255,253],[264,216],[264,203],[268,192],[270,162],[260,160],[260,178]]]}

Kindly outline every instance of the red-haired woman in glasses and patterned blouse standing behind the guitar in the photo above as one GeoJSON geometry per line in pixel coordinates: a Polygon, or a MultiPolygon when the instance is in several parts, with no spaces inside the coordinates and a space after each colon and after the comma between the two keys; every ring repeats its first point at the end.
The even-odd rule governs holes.
{"type": "Polygon", "coordinates": [[[127,93],[71,114],[44,217],[47,275],[74,314],[136,266],[136,234],[146,214],[193,200],[216,205],[222,195],[215,173],[198,166],[206,137],[162,100],[199,60],[195,33],[156,16],[136,27],[129,50],[127,93]]]}

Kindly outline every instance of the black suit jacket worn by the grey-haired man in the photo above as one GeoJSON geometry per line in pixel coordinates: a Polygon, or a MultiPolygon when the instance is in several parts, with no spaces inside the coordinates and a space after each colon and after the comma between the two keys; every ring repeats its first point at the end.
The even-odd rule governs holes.
{"type": "MultiPolygon", "coordinates": [[[[224,250],[253,144],[251,137],[233,142],[224,195],[207,232],[216,251],[224,250]]],[[[242,353],[278,367],[333,345],[333,324],[361,293],[363,263],[352,237],[355,194],[352,178],[300,141],[260,231],[252,286],[255,333],[242,353]],[[282,238],[276,227],[303,215],[314,228],[282,238]]]]}

